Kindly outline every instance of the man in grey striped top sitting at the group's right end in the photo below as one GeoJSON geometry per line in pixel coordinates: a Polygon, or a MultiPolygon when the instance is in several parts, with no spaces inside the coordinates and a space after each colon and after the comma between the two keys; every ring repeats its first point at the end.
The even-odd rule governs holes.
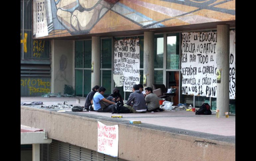
{"type": "Polygon", "coordinates": [[[147,103],[147,112],[157,112],[160,109],[159,98],[151,87],[145,88],[146,97],[145,102],[147,103]]]}

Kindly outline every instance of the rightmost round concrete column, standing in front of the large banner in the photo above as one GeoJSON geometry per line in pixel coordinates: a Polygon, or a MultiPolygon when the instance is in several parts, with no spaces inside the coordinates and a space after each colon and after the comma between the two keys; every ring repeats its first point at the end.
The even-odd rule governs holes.
{"type": "Polygon", "coordinates": [[[219,115],[229,112],[229,26],[217,26],[217,69],[221,70],[221,81],[217,83],[217,109],[219,115]]]}

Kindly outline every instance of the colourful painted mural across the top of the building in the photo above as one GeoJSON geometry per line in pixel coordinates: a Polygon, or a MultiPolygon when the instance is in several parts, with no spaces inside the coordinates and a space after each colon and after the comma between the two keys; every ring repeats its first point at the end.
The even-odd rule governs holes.
{"type": "Polygon", "coordinates": [[[235,0],[34,0],[34,38],[235,20],[235,0]]]}

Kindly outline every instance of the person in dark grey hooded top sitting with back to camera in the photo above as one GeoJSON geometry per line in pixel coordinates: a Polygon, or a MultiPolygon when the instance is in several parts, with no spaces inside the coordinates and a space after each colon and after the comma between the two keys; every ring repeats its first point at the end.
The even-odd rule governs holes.
{"type": "Polygon", "coordinates": [[[143,94],[139,90],[139,85],[134,84],[132,90],[133,93],[130,94],[124,107],[130,109],[131,113],[146,113],[146,103],[143,94]]]}

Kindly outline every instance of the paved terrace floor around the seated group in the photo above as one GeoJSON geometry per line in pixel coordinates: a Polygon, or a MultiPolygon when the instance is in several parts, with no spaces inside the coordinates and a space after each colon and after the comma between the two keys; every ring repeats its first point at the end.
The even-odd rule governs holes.
{"type": "MultiPolygon", "coordinates": [[[[43,102],[43,106],[63,104],[64,101],[68,105],[84,106],[85,98],[83,97],[21,97],[21,102],[43,102]],[[76,103],[76,99],[80,99],[80,104],[76,103]]],[[[39,108],[41,105],[27,106],[39,108]]],[[[43,109],[48,111],[59,111],[64,109],[43,109]]],[[[71,110],[71,109],[70,109],[71,110]]],[[[229,118],[216,118],[212,115],[195,115],[194,112],[181,111],[163,111],[145,114],[111,114],[98,112],[70,112],[65,114],[76,115],[80,117],[93,118],[97,120],[111,121],[117,123],[127,123],[129,120],[139,120],[141,124],[134,124],[149,129],[167,131],[182,135],[189,135],[203,139],[216,140],[235,144],[235,115],[231,114],[229,118]],[[122,115],[123,118],[111,118],[112,115],[122,115]]]]}

